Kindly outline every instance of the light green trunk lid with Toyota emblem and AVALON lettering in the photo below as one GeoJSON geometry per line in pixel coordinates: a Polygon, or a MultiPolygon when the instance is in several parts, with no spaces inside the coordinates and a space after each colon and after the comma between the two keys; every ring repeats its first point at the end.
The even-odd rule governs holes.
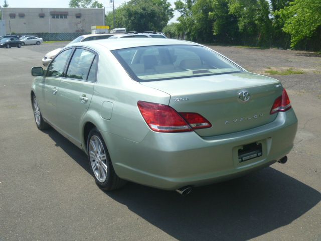
{"type": "Polygon", "coordinates": [[[274,100],[282,94],[278,80],[248,72],[141,82],[171,95],[178,112],[195,112],[212,124],[195,130],[202,137],[252,129],[272,122],[274,100]],[[249,99],[246,100],[246,93],[249,99]],[[245,99],[244,99],[245,98],[245,99]]]}

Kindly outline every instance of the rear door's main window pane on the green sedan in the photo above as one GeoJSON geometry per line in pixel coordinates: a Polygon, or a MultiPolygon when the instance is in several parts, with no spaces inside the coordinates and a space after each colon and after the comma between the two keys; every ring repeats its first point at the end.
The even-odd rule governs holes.
{"type": "Polygon", "coordinates": [[[94,53],[85,49],[76,49],[71,58],[66,77],[87,80],[94,58],[94,53]]]}

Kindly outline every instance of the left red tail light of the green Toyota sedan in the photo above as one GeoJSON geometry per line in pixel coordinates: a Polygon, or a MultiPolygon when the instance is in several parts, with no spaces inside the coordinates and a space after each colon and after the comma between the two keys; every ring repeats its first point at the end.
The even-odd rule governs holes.
{"type": "Polygon", "coordinates": [[[178,113],[168,105],[138,101],[139,111],[148,127],[155,132],[191,132],[212,125],[197,113],[178,113]]]}

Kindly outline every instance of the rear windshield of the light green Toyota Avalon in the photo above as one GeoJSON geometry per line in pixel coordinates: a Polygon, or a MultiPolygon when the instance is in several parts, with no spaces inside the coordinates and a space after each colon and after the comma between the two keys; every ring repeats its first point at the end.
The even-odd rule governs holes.
{"type": "Polygon", "coordinates": [[[242,71],[227,59],[202,46],[147,46],[111,52],[131,78],[139,82],[242,71]]]}

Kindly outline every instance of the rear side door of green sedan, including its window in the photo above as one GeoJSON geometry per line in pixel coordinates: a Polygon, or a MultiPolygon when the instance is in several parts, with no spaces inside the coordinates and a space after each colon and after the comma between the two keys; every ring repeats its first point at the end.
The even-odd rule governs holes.
{"type": "Polygon", "coordinates": [[[77,48],[61,79],[57,97],[58,128],[76,145],[80,145],[80,125],[86,113],[96,80],[97,58],[95,53],[77,48]]]}

